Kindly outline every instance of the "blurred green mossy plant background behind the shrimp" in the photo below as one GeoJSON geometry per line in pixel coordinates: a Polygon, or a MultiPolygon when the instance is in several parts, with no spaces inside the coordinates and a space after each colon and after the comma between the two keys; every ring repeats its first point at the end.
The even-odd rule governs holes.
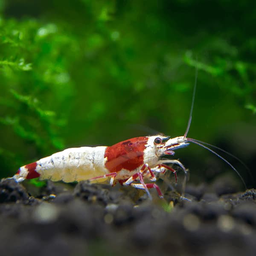
{"type": "MultiPolygon", "coordinates": [[[[183,135],[196,66],[189,137],[253,172],[255,25],[253,0],[0,0],[0,176],[67,147],[183,135]]],[[[176,157],[194,182],[232,172],[196,145],[176,157]]]]}

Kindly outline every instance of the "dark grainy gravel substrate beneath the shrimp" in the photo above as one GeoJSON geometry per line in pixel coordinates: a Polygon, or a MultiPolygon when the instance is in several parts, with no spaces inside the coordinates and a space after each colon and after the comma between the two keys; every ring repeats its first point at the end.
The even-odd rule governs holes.
{"type": "Polygon", "coordinates": [[[256,255],[256,190],[218,180],[187,185],[191,201],[152,194],[150,201],[131,187],[2,180],[0,255],[256,255]]]}

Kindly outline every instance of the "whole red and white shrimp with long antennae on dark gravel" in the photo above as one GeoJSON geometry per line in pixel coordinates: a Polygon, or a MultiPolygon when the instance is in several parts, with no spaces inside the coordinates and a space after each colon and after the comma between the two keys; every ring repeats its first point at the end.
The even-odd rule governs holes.
{"type": "Polygon", "coordinates": [[[150,198],[151,195],[148,189],[155,188],[160,198],[162,198],[162,192],[154,183],[157,179],[155,174],[169,170],[174,173],[177,183],[176,171],[169,164],[180,166],[185,174],[186,169],[179,160],[166,159],[165,157],[174,155],[176,149],[184,148],[190,142],[206,148],[224,160],[236,171],[244,183],[241,175],[227,160],[206,146],[211,146],[210,144],[204,144],[199,140],[186,137],[192,120],[196,80],[197,73],[189,122],[183,136],[171,138],[155,135],[132,138],[112,146],[67,148],[64,151],[20,167],[12,178],[17,182],[36,177],[41,180],[62,180],[64,182],[80,180],[94,180],[97,182],[110,178],[112,186],[119,182],[124,186],[144,189],[150,198]],[[145,178],[151,180],[151,183],[145,183],[145,178]]]}

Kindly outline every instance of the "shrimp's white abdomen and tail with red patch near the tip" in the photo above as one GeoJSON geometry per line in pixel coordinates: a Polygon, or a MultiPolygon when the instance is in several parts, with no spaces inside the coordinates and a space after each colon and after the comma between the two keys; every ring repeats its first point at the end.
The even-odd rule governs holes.
{"type": "Polygon", "coordinates": [[[20,167],[13,178],[17,181],[39,177],[40,180],[73,182],[105,175],[108,174],[105,168],[105,149],[105,146],[67,148],[20,167]]]}

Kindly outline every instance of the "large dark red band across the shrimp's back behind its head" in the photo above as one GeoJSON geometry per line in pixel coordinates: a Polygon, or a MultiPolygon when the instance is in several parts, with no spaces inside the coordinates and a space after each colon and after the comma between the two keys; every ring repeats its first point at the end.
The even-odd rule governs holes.
{"type": "Polygon", "coordinates": [[[143,165],[143,151],[147,142],[147,137],[137,137],[107,147],[104,157],[108,160],[105,167],[109,172],[119,172],[122,169],[134,171],[143,165]]]}

